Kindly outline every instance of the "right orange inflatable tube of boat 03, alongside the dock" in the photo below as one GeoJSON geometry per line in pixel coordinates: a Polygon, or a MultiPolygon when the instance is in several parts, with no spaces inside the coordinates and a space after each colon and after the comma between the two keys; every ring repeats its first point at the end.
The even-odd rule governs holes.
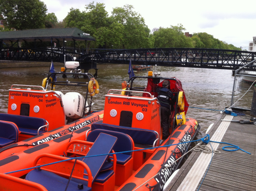
{"type": "Polygon", "coordinates": [[[182,161],[180,157],[186,153],[190,146],[190,143],[174,144],[178,144],[180,141],[192,141],[199,129],[200,125],[198,125],[195,119],[190,119],[186,121],[184,125],[180,125],[162,144],[171,146],[156,149],[151,157],[118,189],[118,191],[132,191],[134,189],[148,190],[148,187],[151,187],[152,191],[158,191],[158,187],[162,190],[172,173],[178,169],[182,161]],[[176,161],[177,159],[178,161],[176,161]],[[168,167],[171,163],[173,163],[173,165],[168,167]],[[167,168],[161,172],[162,166],[167,168]],[[140,187],[140,185],[142,186],[140,187]]]}

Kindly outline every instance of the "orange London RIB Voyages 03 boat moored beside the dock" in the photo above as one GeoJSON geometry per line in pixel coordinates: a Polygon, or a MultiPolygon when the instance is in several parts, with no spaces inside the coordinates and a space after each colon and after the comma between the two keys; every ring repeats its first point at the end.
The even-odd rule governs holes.
{"type": "MultiPolygon", "coordinates": [[[[62,137],[33,147],[25,146],[22,151],[0,149],[0,189],[162,190],[200,125],[186,118],[188,102],[181,82],[158,75],[149,72],[146,77],[134,76],[126,90],[109,90],[103,119],[99,111],[96,117],[91,113],[69,124],[73,129],[80,127],[80,121],[94,117],[90,126],[66,131],[62,137]],[[146,87],[140,85],[142,80],[147,82],[146,87]],[[162,139],[156,91],[164,80],[170,82],[170,90],[177,97],[166,140],[162,139]]],[[[32,139],[39,138],[36,135],[32,139]]]]}

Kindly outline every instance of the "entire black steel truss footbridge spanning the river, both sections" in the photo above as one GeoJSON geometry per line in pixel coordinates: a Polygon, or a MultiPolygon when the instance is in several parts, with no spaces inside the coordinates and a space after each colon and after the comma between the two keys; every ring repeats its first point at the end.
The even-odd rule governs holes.
{"type": "MultiPolygon", "coordinates": [[[[81,69],[95,68],[98,63],[132,64],[217,68],[236,70],[256,59],[256,52],[206,49],[206,48],[144,48],[128,50],[94,50],[89,54],[82,54],[76,50],[53,50],[32,48],[6,48],[0,50],[1,60],[24,60],[64,62],[73,60],[81,64],[81,69]]],[[[256,65],[251,65],[251,69],[256,65]]]]}

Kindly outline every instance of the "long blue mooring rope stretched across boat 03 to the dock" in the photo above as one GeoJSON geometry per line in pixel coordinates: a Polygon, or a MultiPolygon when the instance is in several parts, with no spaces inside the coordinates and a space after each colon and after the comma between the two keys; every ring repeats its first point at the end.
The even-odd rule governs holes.
{"type": "MultiPolygon", "coordinates": [[[[224,142],[217,142],[217,141],[210,141],[210,135],[206,135],[205,137],[201,138],[201,139],[198,139],[198,140],[194,140],[194,141],[188,141],[188,142],[183,142],[183,143],[176,143],[176,144],[171,144],[171,145],[163,145],[163,146],[158,146],[158,147],[151,147],[151,148],[146,148],[146,149],[156,149],[156,148],[161,148],[161,147],[169,147],[169,146],[172,146],[172,145],[180,145],[180,144],[184,144],[184,143],[192,143],[192,142],[196,142],[196,141],[202,141],[203,143],[206,143],[208,144],[209,142],[214,142],[214,143],[223,143],[223,144],[228,144],[228,145],[232,145],[230,143],[224,143],[224,142]]],[[[211,145],[212,146],[212,145],[211,145]]],[[[146,149],[138,149],[138,150],[132,150],[132,151],[122,151],[122,152],[116,152],[114,154],[119,154],[119,153],[128,153],[128,152],[134,152],[134,151],[143,151],[143,150],[146,150],[146,149]]],[[[224,151],[237,151],[239,150],[240,148],[236,145],[232,145],[232,146],[225,146],[225,147],[222,147],[222,149],[224,151]],[[228,150],[228,149],[225,149],[227,147],[234,147],[236,149],[233,149],[233,150],[228,150]]],[[[244,151],[243,149],[240,149],[242,151],[244,151]]],[[[246,153],[248,153],[247,151],[244,151],[246,153]]],[[[48,163],[48,164],[45,164],[45,165],[40,165],[40,166],[36,166],[36,167],[30,167],[30,168],[26,168],[26,169],[21,169],[21,170],[17,170],[17,171],[11,171],[11,172],[7,172],[7,173],[4,173],[4,174],[10,174],[10,173],[16,173],[16,172],[20,172],[20,171],[25,171],[25,170],[30,170],[30,169],[35,169],[35,168],[40,168],[40,167],[44,167],[44,166],[47,166],[47,165],[52,165],[52,164],[56,164],[56,163],[61,163],[61,162],[64,162],[64,161],[69,161],[69,160],[73,160],[73,159],[80,159],[80,158],[87,158],[87,157],[97,157],[97,156],[103,156],[103,155],[112,155],[113,153],[107,153],[107,154],[101,154],[101,155],[92,155],[92,156],[84,156],[84,157],[73,157],[73,158],[69,158],[69,159],[65,159],[65,160],[62,160],[62,161],[57,161],[57,162],[54,162],[54,163],[48,163]]],[[[248,153],[248,154],[251,154],[251,153],[248,153]]]]}

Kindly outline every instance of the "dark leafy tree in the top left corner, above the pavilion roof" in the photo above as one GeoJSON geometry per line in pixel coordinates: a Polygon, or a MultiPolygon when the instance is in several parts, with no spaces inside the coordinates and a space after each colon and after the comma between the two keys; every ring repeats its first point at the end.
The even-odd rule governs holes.
{"type": "Polygon", "coordinates": [[[0,13],[8,28],[44,28],[47,8],[40,0],[0,0],[0,13]]]}

